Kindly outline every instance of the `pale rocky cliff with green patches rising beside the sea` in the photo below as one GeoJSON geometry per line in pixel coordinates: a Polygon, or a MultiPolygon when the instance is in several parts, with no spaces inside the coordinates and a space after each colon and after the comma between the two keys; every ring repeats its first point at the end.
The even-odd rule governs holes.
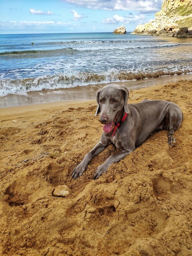
{"type": "Polygon", "coordinates": [[[132,34],[192,37],[192,0],[164,0],[155,19],[138,25],[132,34]]]}

